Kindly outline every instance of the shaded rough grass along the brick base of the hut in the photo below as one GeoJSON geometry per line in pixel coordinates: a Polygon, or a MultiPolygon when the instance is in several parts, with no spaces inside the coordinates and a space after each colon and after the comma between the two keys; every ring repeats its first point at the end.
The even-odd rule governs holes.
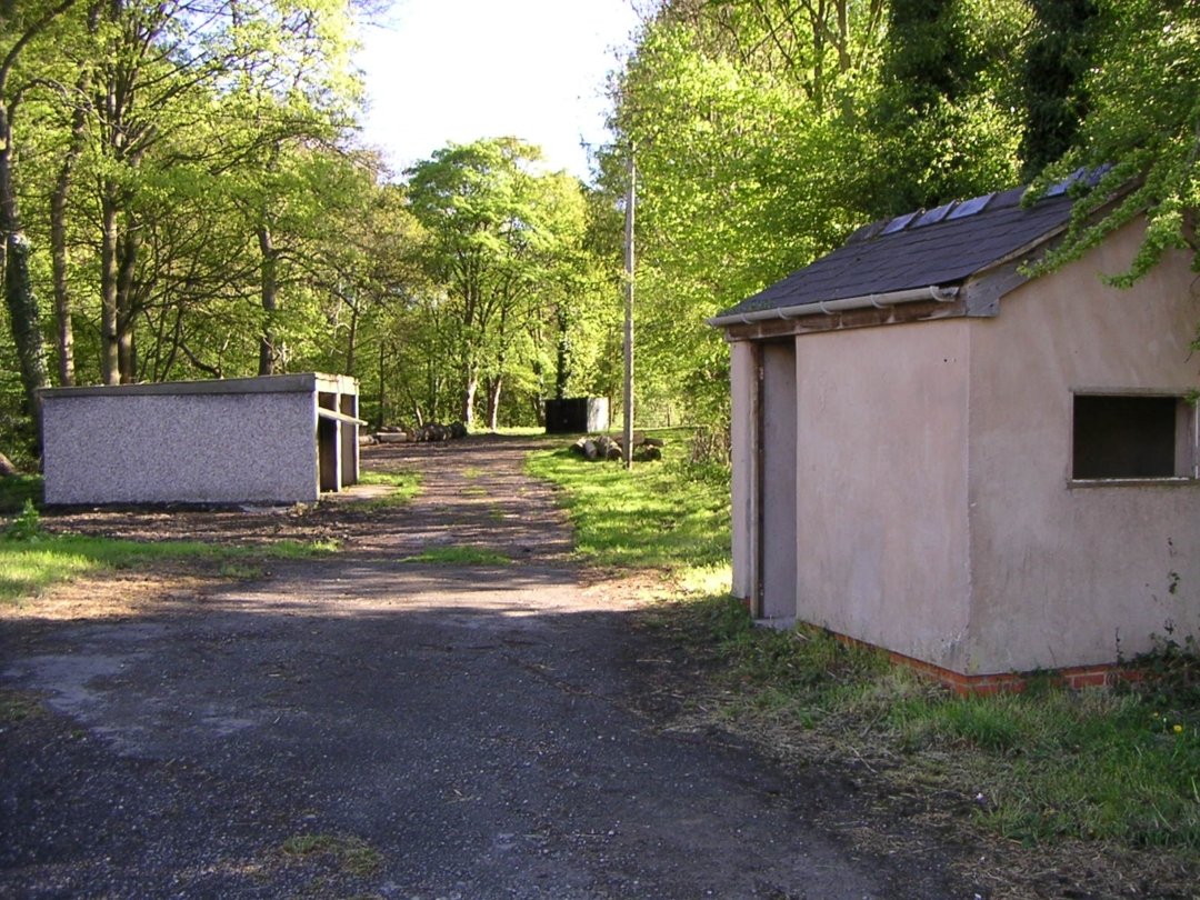
{"type": "MultiPolygon", "coordinates": [[[[754,628],[728,596],[664,604],[647,623],[707,656],[716,715],[766,742],[874,761],[918,796],[960,798],[979,827],[1009,840],[1200,851],[1190,691],[1152,677],[1084,691],[1045,678],[1022,694],[960,697],[818,629],[754,628]]],[[[1187,665],[1200,673],[1200,656],[1187,665]]]]}

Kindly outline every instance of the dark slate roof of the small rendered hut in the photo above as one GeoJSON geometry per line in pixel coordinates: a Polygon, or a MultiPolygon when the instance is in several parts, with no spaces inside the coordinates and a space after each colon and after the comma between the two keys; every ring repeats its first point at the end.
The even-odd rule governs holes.
{"type": "Polygon", "coordinates": [[[961,283],[1066,226],[1072,208],[1067,187],[1081,175],[1056,185],[1028,209],[1021,206],[1025,188],[1018,187],[864,226],[845,246],[718,318],[961,283]]]}

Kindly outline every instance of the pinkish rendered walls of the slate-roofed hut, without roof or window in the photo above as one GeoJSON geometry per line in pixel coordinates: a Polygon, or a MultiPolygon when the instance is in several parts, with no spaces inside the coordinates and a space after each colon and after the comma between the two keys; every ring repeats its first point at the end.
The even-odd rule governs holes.
{"type": "Polygon", "coordinates": [[[1139,240],[1126,227],[1013,290],[995,318],[734,340],[734,592],[761,584],[760,616],[952,680],[1104,666],[1172,623],[1200,632],[1195,412],[1177,478],[1072,472],[1076,394],[1196,384],[1200,292],[1184,254],[1128,290],[1098,277],[1139,240]],[[760,445],[773,391],[794,404],[787,436],[766,432],[782,450],[760,445]]]}

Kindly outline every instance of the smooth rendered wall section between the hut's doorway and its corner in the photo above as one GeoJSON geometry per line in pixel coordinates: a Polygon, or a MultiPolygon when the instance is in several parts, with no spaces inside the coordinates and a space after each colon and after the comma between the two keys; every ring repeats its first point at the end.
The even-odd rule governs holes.
{"type": "Polygon", "coordinates": [[[798,614],[950,668],[968,631],[968,328],[797,344],[798,614]]]}

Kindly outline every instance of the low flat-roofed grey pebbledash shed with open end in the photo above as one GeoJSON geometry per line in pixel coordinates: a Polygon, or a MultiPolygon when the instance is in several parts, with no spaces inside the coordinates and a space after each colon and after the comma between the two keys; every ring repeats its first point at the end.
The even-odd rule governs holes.
{"type": "Polygon", "coordinates": [[[358,382],[302,374],[41,392],[46,503],[314,503],[358,481],[358,382]]]}

